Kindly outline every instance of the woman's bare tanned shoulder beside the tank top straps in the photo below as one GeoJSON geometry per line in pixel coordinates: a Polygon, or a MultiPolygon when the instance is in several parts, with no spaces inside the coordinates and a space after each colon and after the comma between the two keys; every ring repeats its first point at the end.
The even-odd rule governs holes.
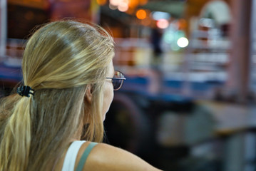
{"type": "MultiPolygon", "coordinates": [[[[81,147],[86,150],[89,142],[81,147]]],[[[79,152],[80,153],[80,152],[79,152]]],[[[78,155],[78,160],[81,156],[78,155]]],[[[98,143],[88,155],[83,170],[158,170],[132,153],[105,143],[98,143]]]]}

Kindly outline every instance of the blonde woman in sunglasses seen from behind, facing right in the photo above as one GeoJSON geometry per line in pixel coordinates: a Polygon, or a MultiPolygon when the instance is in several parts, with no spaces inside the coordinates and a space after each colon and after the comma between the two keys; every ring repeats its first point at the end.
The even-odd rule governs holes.
{"type": "Polygon", "coordinates": [[[1,171],[157,170],[125,150],[94,143],[103,139],[113,90],[125,79],[114,71],[113,56],[113,39],[98,26],[56,21],[31,36],[24,86],[1,100],[1,171]]]}

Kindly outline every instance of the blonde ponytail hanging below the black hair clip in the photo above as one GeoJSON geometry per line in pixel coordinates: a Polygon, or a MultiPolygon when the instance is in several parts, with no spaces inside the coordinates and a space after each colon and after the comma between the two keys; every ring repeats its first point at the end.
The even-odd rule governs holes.
{"type": "MultiPolygon", "coordinates": [[[[9,97],[11,98],[11,97],[9,97]]],[[[0,170],[26,170],[31,144],[30,105],[33,97],[20,98],[13,112],[6,118],[1,133],[0,170]]]]}

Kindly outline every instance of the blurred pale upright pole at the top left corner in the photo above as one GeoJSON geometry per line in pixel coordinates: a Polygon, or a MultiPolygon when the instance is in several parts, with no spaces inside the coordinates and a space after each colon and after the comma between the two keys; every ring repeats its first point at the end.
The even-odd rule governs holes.
{"type": "Polygon", "coordinates": [[[0,0],[0,58],[6,55],[7,1],[0,0]]]}

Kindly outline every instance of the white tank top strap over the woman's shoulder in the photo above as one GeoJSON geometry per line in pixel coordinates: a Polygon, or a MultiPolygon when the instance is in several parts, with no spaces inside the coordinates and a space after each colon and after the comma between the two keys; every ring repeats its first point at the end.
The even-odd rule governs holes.
{"type": "Polygon", "coordinates": [[[84,142],[86,141],[81,140],[71,143],[71,145],[68,147],[68,151],[66,152],[66,157],[64,159],[61,171],[73,171],[75,169],[76,156],[81,145],[83,145],[84,142]]]}

